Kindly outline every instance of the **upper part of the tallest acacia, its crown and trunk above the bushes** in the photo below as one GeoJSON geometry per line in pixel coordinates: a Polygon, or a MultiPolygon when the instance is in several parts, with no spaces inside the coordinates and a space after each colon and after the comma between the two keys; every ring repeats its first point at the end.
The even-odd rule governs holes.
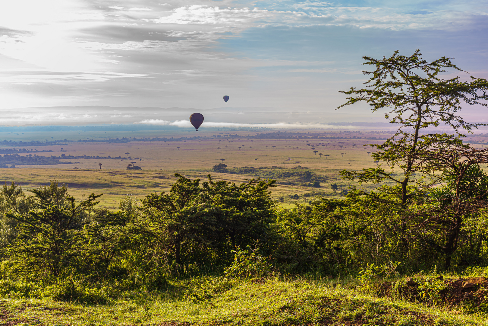
{"type": "Polygon", "coordinates": [[[344,170],[341,175],[346,179],[358,179],[360,183],[392,180],[397,183],[397,187],[382,189],[390,193],[398,193],[398,189],[400,202],[405,206],[412,197],[408,193],[409,185],[413,183],[418,189],[428,187],[435,181],[435,160],[419,162],[419,157],[425,156],[425,152],[436,144],[462,144],[459,137],[463,136],[463,131],[472,132],[473,128],[482,125],[466,122],[457,112],[463,104],[488,107],[488,82],[473,76],[470,76],[470,81],[462,81],[460,77],[444,79],[442,73],[447,69],[466,71],[454,65],[451,62],[453,58],[442,57],[428,62],[422,58],[420,50],[411,56],[399,55],[397,50],[389,58],[373,59],[365,56],[363,59],[366,61],[363,65],[372,65],[375,70],[363,71],[371,76],[364,83],[366,87],[351,87],[350,90],[340,91],[351,96],[337,109],[366,102],[372,111],[386,109],[386,119],[400,127],[383,144],[369,145],[378,150],[371,156],[375,160],[384,161],[389,171],[378,166],[359,172],[344,170]],[[450,126],[454,134],[429,133],[427,130],[441,124],[450,126]],[[403,173],[394,174],[395,167],[403,173]],[[416,172],[434,178],[417,178],[414,175],[416,172]]]}

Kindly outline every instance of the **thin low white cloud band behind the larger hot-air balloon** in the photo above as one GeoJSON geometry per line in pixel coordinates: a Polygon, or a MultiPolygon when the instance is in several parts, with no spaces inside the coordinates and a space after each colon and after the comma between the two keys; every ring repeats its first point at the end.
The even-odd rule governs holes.
{"type": "MultiPolygon", "coordinates": [[[[159,125],[159,126],[176,126],[180,128],[192,128],[188,120],[167,121],[159,119],[145,119],[134,122],[135,124],[159,125]]],[[[320,123],[231,123],[231,122],[203,122],[200,128],[274,128],[274,129],[356,129],[355,126],[332,126],[320,123]]]]}

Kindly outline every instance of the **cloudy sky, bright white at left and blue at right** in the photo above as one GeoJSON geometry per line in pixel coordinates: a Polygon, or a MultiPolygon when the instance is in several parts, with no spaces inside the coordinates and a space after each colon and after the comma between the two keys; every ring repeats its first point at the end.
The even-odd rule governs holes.
{"type": "MultiPolygon", "coordinates": [[[[121,122],[109,107],[155,115],[136,110],[133,122],[169,121],[157,108],[174,107],[321,113],[286,120],[298,123],[377,120],[361,105],[334,110],[345,102],[338,90],[366,80],[363,56],[419,48],[488,78],[487,27],[483,0],[3,1],[0,124],[121,122]],[[32,107],[58,108],[22,109],[32,107]]],[[[478,108],[466,114],[488,121],[478,108]]]]}

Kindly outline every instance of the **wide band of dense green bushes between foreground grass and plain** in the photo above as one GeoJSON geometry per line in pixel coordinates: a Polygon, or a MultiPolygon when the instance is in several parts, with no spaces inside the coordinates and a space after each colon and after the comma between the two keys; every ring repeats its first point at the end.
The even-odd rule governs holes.
{"type": "Polygon", "coordinates": [[[0,276],[44,284],[76,276],[90,286],[156,289],[188,266],[222,271],[232,249],[256,240],[282,274],[345,275],[385,261],[401,261],[404,271],[463,270],[488,262],[488,209],[479,206],[488,202],[488,177],[473,170],[471,180],[475,175],[483,176],[483,187],[471,187],[475,199],[458,229],[419,214],[456,214],[459,206],[446,196],[453,183],[429,196],[412,195],[421,200],[407,208],[395,203],[398,193],[351,190],[343,199],[310,197],[310,204],[284,209],[270,197],[275,180],[236,185],[176,174],[168,193],[127,196],[118,212],[99,207],[101,194],[77,200],[56,181],[31,195],[5,184],[0,276]],[[451,234],[456,243],[449,247],[451,234]]]}

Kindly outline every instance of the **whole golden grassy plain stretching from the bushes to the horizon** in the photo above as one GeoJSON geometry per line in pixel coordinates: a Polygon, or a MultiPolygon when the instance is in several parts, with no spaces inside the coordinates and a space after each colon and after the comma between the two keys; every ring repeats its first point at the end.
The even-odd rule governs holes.
{"type": "MultiPolygon", "coordinates": [[[[303,130],[299,130],[302,132],[303,130]]],[[[185,131],[148,131],[138,132],[109,132],[107,136],[122,137],[129,133],[132,137],[175,137],[195,135],[195,132],[185,131]]],[[[252,132],[239,131],[229,132],[240,134],[243,137],[252,132]]],[[[80,139],[97,139],[95,132],[81,132],[71,135],[80,139]]],[[[224,135],[227,132],[204,131],[198,133],[199,136],[224,135]]],[[[352,133],[340,133],[337,131],[324,133],[327,135],[345,135],[352,133]]],[[[354,135],[359,133],[354,133],[354,135]]],[[[360,133],[365,136],[365,134],[360,133]]],[[[23,140],[44,139],[37,133],[15,135],[23,140]]],[[[13,139],[8,135],[1,135],[5,139],[13,139]]],[[[385,136],[385,135],[378,135],[385,136]]],[[[64,133],[52,136],[54,139],[70,138],[64,137],[64,133]]],[[[105,137],[100,136],[99,138],[105,137]]],[[[46,136],[47,138],[47,136],[46,136]]],[[[50,138],[50,137],[49,137],[50,138]]],[[[13,139],[13,140],[19,140],[13,139]]],[[[107,143],[107,142],[67,142],[66,145],[39,146],[38,150],[51,150],[53,152],[35,153],[44,156],[60,156],[61,154],[73,156],[111,156],[127,159],[83,159],[70,158],[64,161],[79,162],[76,164],[62,165],[17,165],[16,169],[0,169],[0,182],[10,183],[15,181],[25,189],[39,187],[41,184],[58,180],[68,184],[70,193],[81,198],[83,194],[92,192],[103,193],[101,205],[109,209],[117,209],[118,203],[123,196],[132,194],[137,198],[146,196],[156,191],[167,191],[171,184],[176,180],[174,174],[181,173],[190,178],[206,179],[206,175],[211,173],[216,180],[227,180],[230,182],[241,183],[245,179],[258,177],[254,175],[238,174],[219,174],[213,173],[212,167],[224,163],[228,168],[239,168],[245,166],[258,167],[279,167],[294,168],[297,166],[307,167],[315,174],[324,176],[327,180],[322,182],[321,188],[303,187],[297,185],[286,185],[285,179],[278,182],[278,187],[272,189],[272,197],[278,199],[285,197],[285,202],[280,203],[284,207],[292,207],[295,202],[304,203],[311,197],[304,197],[304,194],[325,193],[333,195],[330,189],[331,183],[337,183],[341,189],[346,189],[353,183],[343,181],[339,178],[338,172],[342,169],[360,170],[365,167],[375,167],[376,163],[367,152],[372,152],[371,147],[364,144],[377,142],[365,139],[192,139],[192,140],[172,140],[172,141],[134,141],[128,143],[107,143]],[[61,152],[62,148],[62,152],[61,152]],[[219,149],[220,148],[220,149],[219,149]],[[314,153],[312,150],[318,151],[314,153]],[[128,154],[126,154],[128,153],[128,154]],[[322,153],[324,155],[318,155],[322,153]],[[325,154],[329,155],[325,157],[325,154]],[[130,159],[129,159],[130,156],[130,159]],[[138,158],[138,159],[136,159],[138,158]],[[142,170],[126,170],[127,164],[136,162],[142,170]],[[102,163],[100,168],[99,163],[102,163]],[[77,169],[75,169],[75,167],[77,169]],[[291,199],[293,195],[299,195],[300,199],[291,199]]],[[[2,148],[12,148],[2,146],[2,148]]],[[[14,147],[20,148],[20,147],[14,147]]],[[[26,153],[20,153],[26,155],[26,153]]]]}

